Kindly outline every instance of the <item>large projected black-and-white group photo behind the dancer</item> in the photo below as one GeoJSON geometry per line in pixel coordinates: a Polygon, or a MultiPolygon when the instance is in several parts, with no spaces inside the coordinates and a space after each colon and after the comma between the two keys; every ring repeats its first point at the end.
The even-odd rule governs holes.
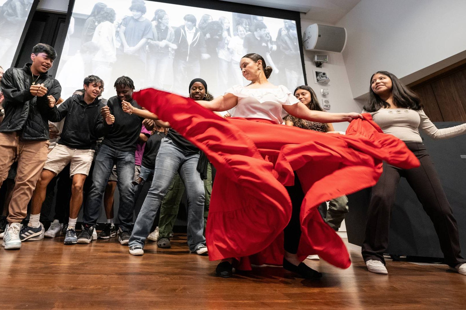
{"type": "MultiPolygon", "coordinates": [[[[192,2],[195,3],[195,2],[192,2]]],[[[304,84],[296,23],[270,17],[143,0],[76,0],[57,79],[62,96],[96,74],[103,96],[127,75],[137,89],[187,95],[189,81],[205,79],[209,92],[248,82],[239,61],[259,53],[274,71],[270,81],[289,89],[304,84]]]]}

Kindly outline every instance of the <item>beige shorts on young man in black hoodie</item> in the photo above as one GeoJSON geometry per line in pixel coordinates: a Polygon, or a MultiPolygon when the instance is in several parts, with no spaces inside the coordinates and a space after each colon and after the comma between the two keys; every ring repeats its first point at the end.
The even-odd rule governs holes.
{"type": "Polygon", "coordinates": [[[94,159],[94,152],[94,150],[72,149],[66,145],[57,144],[48,153],[44,169],[58,174],[70,163],[70,177],[78,173],[89,175],[90,166],[94,159]]]}

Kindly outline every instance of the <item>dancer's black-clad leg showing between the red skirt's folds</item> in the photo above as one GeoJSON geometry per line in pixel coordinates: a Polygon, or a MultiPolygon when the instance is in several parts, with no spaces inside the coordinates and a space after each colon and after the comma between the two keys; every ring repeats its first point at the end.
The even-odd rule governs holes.
{"type": "Polygon", "coordinates": [[[301,212],[301,204],[304,199],[304,192],[301,188],[301,183],[295,172],[295,185],[286,186],[288,195],[291,198],[291,219],[283,230],[283,243],[285,251],[291,254],[298,252],[299,239],[301,238],[301,222],[299,220],[299,214],[301,212]]]}

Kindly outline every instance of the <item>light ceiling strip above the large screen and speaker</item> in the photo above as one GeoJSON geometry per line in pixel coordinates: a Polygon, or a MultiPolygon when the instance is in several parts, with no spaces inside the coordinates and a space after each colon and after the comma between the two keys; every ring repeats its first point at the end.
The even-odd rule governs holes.
{"type": "Polygon", "coordinates": [[[335,24],[361,0],[222,0],[304,13],[302,19],[335,24]]]}

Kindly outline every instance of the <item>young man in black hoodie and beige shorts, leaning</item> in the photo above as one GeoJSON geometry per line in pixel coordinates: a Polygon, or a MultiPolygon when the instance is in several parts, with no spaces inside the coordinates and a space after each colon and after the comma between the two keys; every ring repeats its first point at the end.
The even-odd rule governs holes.
{"type": "MultiPolygon", "coordinates": [[[[108,127],[103,125],[101,114],[104,105],[97,98],[102,86],[102,79],[95,75],[89,75],[84,79],[84,95],[71,96],[66,99],[51,118],[52,121],[59,122],[66,117],[60,140],[48,153],[41,177],[37,182],[32,196],[29,223],[20,232],[21,241],[39,240],[44,237],[43,226],[39,222],[39,218],[41,217],[47,185],[66,165],[70,164],[69,175],[73,179],[73,183],[69,201],[68,229],[64,244],[77,243],[75,226],[82,205],[82,187],[94,159],[96,140],[108,130],[108,127]]],[[[105,119],[108,125],[113,124],[114,121],[113,115],[109,115],[105,119]]]]}

